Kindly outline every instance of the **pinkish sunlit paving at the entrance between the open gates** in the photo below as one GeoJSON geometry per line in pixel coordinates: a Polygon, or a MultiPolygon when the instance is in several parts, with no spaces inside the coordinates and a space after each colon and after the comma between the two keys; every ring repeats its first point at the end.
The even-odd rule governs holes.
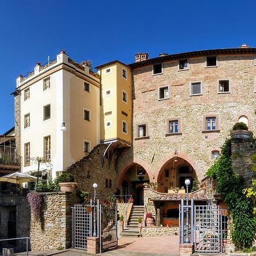
{"type": "MultiPolygon", "coordinates": [[[[64,251],[30,251],[29,255],[85,256],[90,254],[86,251],[71,249],[64,251]]],[[[118,240],[118,249],[98,255],[177,256],[179,255],[179,237],[121,237],[118,240]]]]}

